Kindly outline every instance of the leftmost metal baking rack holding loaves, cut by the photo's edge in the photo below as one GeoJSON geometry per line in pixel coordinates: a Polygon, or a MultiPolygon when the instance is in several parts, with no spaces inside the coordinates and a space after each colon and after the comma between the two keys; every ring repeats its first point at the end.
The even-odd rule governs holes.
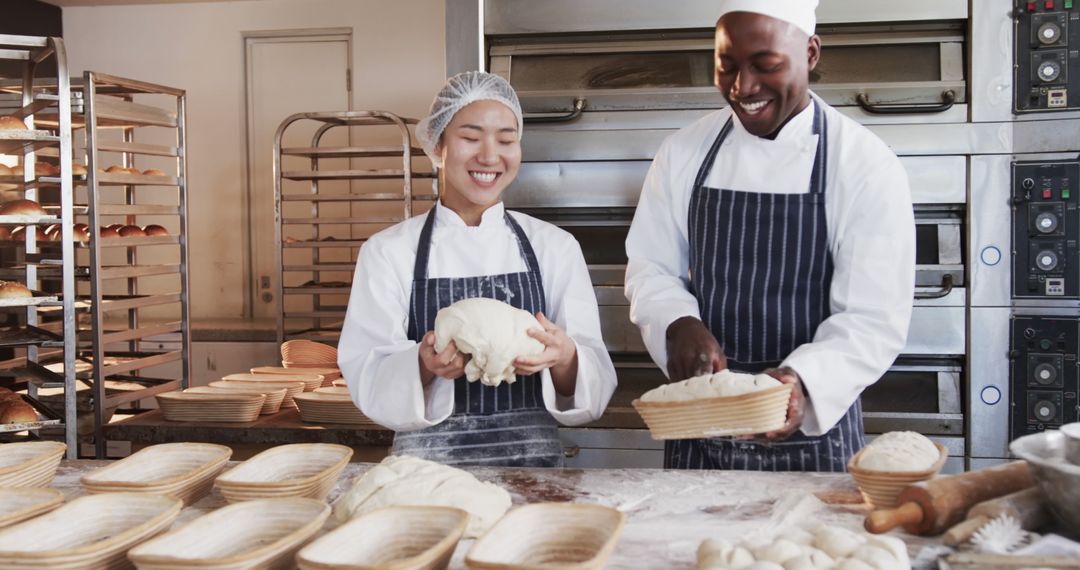
{"type": "Polygon", "coordinates": [[[0,154],[17,157],[23,166],[22,176],[0,177],[0,188],[49,207],[46,216],[0,216],[0,226],[19,225],[29,230],[25,231],[22,242],[6,243],[3,259],[17,268],[4,270],[11,273],[8,279],[18,280],[33,290],[29,298],[0,300],[0,308],[6,313],[17,311],[19,321],[0,331],[0,345],[5,350],[13,349],[15,354],[0,363],[0,371],[16,385],[27,385],[27,401],[45,418],[37,422],[0,424],[0,433],[36,434],[41,428],[63,429],[67,457],[73,459],[78,456],[75,394],[77,328],[71,89],[67,54],[59,38],[0,35],[0,59],[19,62],[23,66],[22,80],[4,86],[11,95],[5,99],[11,108],[3,109],[2,114],[23,119],[28,127],[27,131],[0,131],[0,154]],[[50,59],[56,63],[56,74],[37,77],[38,66],[50,59]],[[42,120],[46,113],[51,114],[50,121],[42,120]],[[49,192],[42,191],[35,174],[39,155],[54,158],[59,168],[58,174],[50,177],[49,192]],[[55,247],[44,248],[44,244],[37,239],[36,230],[53,223],[59,227],[60,241],[55,247]],[[44,266],[51,266],[55,274],[53,282],[58,282],[59,286],[41,293],[46,282],[43,273],[49,272],[42,271],[44,266]],[[43,317],[48,313],[56,315],[51,324],[43,322],[48,321],[43,317]],[[49,370],[45,367],[49,361],[60,363],[64,371],[49,370]],[[63,389],[63,420],[38,399],[38,390],[43,386],[63,389]]]}

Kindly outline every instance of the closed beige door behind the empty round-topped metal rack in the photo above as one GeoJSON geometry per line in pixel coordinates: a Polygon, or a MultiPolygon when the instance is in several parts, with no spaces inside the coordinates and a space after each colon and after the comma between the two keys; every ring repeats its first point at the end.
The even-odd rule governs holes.
{"type": "MultiPolygon", "coordinates": [[[[280,35],[248,33],[244,42],[247,70],[244,306],[249,317],[273,317],[281,303],[275,298],[280,275],[274,239],[274,133],[294,113],[351,108],[351,38],[348,30],[291,30],[280,35]]],[[[314,122],[294,125],[284,146],[311,146],[315,128],[314,122]]],[[[348,137],[348,130],[333,130],[323,137],[323,144],[346,146],[348,137]]],[[[284,233],[305,231],[310,230],[286,228],[284,233]]]]}

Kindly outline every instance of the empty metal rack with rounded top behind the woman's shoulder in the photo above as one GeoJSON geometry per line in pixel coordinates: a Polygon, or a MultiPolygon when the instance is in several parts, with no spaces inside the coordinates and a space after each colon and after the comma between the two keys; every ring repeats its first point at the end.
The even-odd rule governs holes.
{"type": "Polygon", "coordinates": [[[336,344],[360,247],[374,231],[413,216],[417,203],[434,202],[434,184],[430,191],[416,190],[416,180],[433,180],[435,174],[426,160],[421,168],[414,165],[414,159],[424,155],[414,144],[413,124],[415,119],[384,111],[342,111],[297,113],[278,126],[273,180],[279,343],[309,339],[336,344]],[[302,135],[291,135],[312,122],[310,146],[285,145],[299,139],[302,135]],[[387,145],[325,142],[327,133],[341,127],[353,138],[373,132],[370,127],[382,127],[382,134],[396,127],[396,134],[388,135],[394,142],[387,145]],[[400,166],[387,167],[399,158],[400,166]],[[345,168],[338,167],[341,161],[348,161],[345,168]],[[333,181],[347,181],[348,192],[340,186],[328,191],[326,185],[333,181]],[[309,204],[310,209],[298,214],[297,204],[309,204]]]}

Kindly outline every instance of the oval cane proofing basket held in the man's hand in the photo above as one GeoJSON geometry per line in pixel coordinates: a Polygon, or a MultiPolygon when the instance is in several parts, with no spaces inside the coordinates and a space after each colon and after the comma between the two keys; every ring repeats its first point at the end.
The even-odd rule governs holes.
{"type": "Polygon", "coordinates": [[[791,395],[792,384],[783,384],[738,396],[683,402],[635,399],[633,405],[653,439],[699,439],[779,430],[787,419],[791,395]]]}

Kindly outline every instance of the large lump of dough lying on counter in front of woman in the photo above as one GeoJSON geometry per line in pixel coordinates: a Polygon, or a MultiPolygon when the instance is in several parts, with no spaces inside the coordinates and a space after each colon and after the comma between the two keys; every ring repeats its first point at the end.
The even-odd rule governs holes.
{"type": "Polygon", "coordinates": [[[454,506],[469,512],[467,538],[487,531],[510,508],[510,493],[459,469],[410,456],[391,456],[372,467],[337,502],[334,519],[391,505],[454,506]]]}

